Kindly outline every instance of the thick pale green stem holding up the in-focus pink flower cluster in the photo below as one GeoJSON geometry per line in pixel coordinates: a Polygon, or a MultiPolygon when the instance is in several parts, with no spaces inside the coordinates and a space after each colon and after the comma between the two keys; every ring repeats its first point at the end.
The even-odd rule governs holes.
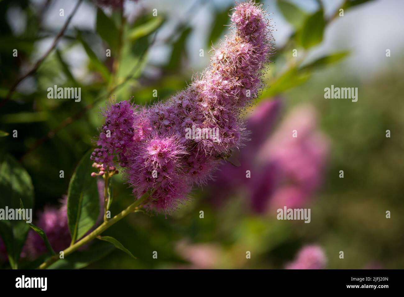
{"type": "MultiPolygon", "coordinates": [[[[84,246],[85,244],[87,244],[88,242],[90,242],[91,240],[96,238],[98,235],[100,235],[102,232],[107,230],[109,227],[114,225],[116,222],[118,222],[121,219],[123,219],[124,217],[126,217],[128,214],[134,213],[135,211],[141,209],[141,207],[143,206],[141,204],[142,204],[142,202],[144,202],[144,200],[147,198],[147,196],[148,196],[147,194],[143,195],[140,199],[138,199],[135,202],[133,202],[132,204],[130,204],[126,209],[121,211],[118,215],[116,215],[115,217],[113,217],[109,221],[103,222],[93,232],[91,232],[87,236],[83,237],[78,242],[76,242],[76,243],[72,244],[71,246],[69,246],[67,249],[65,249],[63,251],[64,256],[70,255],[71,253],[73,253],[74,251],[79,249],[81,246],[84,246]]],[[[60,259],[59,255],[54,255],[54,256],[50,257],[48,260],[46,260],[44,263],[42,263],[39,266],[39,269],[48,268],[50,265],[52,265],[53,263],[55,263],[59,259],[60,259]]]]}

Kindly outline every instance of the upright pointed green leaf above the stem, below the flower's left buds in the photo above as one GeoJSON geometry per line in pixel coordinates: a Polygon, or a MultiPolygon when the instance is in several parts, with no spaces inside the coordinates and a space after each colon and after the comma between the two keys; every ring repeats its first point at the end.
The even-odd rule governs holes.
{"type": "Polygon", "coordinates": [[[88,152],[80,160],[69,183],[67,219],[72,243],[93,227],[99,215],[97,179],[91,177],[93,167],[88,152]]]}

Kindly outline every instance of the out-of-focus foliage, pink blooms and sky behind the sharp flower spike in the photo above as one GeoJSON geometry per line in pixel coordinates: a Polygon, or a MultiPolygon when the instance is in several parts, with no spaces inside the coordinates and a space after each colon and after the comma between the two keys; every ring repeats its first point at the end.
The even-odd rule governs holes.
{"type": "MultiPolygon", "coordinates": [[[[251,141],[172,215],[137,213],[105,232],[137,259],[95,242],[53,268],[404,267],[404,2],[261,2],[276,53],[246,115],[251,141]],[[358,101],[324,99],[331,85],[358,88],[358,101]],[[311,222],[277,220],[284,205],[311,209],[311,222]]],[[[229,34],[235,5],[85,0],[56,50],[10,93],[76,3],[0,0],[0,154],[29,173],[34,221],[61,207],[78,161],[95,146],[108,98],[148,105],[184,88],[229,34]],[[48,99],[54,85],[81,87],[81,101],[48,99]]],[[[133,196],[122,174],[112,187],[115,215],[133,196]]],[[[21,265],[33,260],[21,254],[21,265]]],[[[0,267],[9,267],[5,258],[0,267]]]]}

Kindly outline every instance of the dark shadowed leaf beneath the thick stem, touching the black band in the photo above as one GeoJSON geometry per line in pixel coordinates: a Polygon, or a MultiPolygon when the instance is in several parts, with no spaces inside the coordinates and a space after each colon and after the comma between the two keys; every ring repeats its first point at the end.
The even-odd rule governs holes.
{"type": "Polygon", "coordinates": [[[66,258],[59,259],[50,265],[48,269],[81,269],[102,259],[113,250],[114,246],[107,242],[91,244],[90,249],[86,251],[75,251],[66,258]]]}

